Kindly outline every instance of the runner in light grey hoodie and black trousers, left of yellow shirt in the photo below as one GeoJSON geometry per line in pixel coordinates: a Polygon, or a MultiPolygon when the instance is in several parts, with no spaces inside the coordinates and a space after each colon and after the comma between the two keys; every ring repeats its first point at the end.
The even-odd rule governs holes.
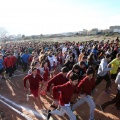
{"type": "Polygon", "coordinates": [[[105,87],[105,92],[107,93],[110,92],[109,87],[111,86],[111,79],[108,72],[112,70],[112,68],[108,68],[107,66],[110,60],[111,60],[110,55],[106,55],[106,57],[101,60],[101,63],[99,65],[98,72],[97,72],[97,79],[95,82],[97,86],[101,83],[102,80],[105,80],[107,82],[105,87]]]}

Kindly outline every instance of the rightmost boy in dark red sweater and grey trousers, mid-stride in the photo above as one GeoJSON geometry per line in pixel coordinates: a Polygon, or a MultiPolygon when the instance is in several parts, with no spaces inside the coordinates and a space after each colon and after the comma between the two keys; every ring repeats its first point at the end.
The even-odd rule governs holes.
{"type": "Polygon", "coordinates": [[[92,67],[88,68],[86,71],[86,77],[83,80],[81,80],[77,86],[77,91],[80,92],[81,98],[72,106],[72,110],[74,111],[81,104],[87,102],[90,107],[89,120],[94,120],[94,110],[95,110],[95,103],[91,97],[91,92],[95,88],[95,78],[93,77],[93,75],[94,75],[94,70],[92,69],[92,67]]]}

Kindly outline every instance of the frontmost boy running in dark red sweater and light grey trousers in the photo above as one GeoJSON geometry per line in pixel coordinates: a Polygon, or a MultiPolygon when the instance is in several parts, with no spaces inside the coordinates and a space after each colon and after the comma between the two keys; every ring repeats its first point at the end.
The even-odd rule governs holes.
{"type": "Polygon", "coordinates": [[[49,120],[51,114],[63,116],[65,113],[68,115],[70,120],[76,120],[76,116],[71,110],[70,101],[76,89],[77,84],[78,84],[78,75],[76,73],[73,73],[70,75],[69,81],[67,83],[53,87],[52,91],[53,91],[54,104],[59,103],[60,110],[57,109],[52,111],[48,110],[47,120],[49,120]],[[60,93],[59,99],[58,99],[58,93],[60,93]]]}

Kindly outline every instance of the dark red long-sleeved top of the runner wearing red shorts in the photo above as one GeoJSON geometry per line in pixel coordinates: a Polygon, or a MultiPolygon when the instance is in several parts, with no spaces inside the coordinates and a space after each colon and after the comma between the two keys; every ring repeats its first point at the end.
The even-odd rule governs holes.
{"type": "Polygon", "coordinates": [[[29,80],[30,90],[38,90],[39,83],[40,81],[43,80],[43,78],[39,74],[36,74],[35,77],[33,77],[33,74],[30,74],[24,77],[23,80],[24,80],[24,88],[26,88],[26,81],[29,80]]]}

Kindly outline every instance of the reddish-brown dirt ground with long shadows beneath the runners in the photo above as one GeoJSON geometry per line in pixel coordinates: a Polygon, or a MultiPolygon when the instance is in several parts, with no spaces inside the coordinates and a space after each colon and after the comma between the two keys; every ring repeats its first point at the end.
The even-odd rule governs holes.
{"type": "MultiPolygon", "coordinates": [[[[11,80],[1,80],[0,81],[0,95],[3,96],[2,100],[9,105],[13,106],[15,109],[21,111],[28,117],[32,118],[33,120],[42,120],[43,118],[40,117],[41,113],[39,113],[36,101],[34,98],[31,98],[29,101],[26,100],[26,93],[23,89],[23,77],[26,75],[21,71],[15,73],[18,76],[13,77],[11,80]],[[6,99],[9,99],[13,103],[9,102],[6,99]],[[24,108],[20,107],[23,106],[24,108]],[[30,112],[30,109],[33,113],[30,112]]],[[[95,109],[95,120],[120,120],[120,114],[118,110],[114,107],[114,105],[108,106],[105,109],[105,112],[102,112],[99,108],[99,105],[104,103],[105,101],[111,99],[116,94],[116,85],[113,84],[112,86],[112,93],[110,95],[105,94],[103,92],[105,87],[105,81],[97,87],[98,91],[93,94],[93,99],[96,102],[96,109],[95,109]],[[100,95],[101,94],[101,95],[100,95]]],[[[48,109],[50,103],[52,102],[52,97],[50,96],[41,96],[43,101],[43,105],[45,109],[48,109]]],[[[89,119],[89,106],[84,103],[81,105],[75,112],[78,115],[79,120],[88,120],[89,119]]],[[[4,105],[0,102],[0,116],[1,120],[24,120],[25,118],[16,113],[15,111],[11,110],[9,107],[4,105]],[[2,112],[1,112],[2,111],[2,112]]],[[[68,117],[65,115],[63,117],[53,116],[54,120],[68,120],[68,117]]]]}

